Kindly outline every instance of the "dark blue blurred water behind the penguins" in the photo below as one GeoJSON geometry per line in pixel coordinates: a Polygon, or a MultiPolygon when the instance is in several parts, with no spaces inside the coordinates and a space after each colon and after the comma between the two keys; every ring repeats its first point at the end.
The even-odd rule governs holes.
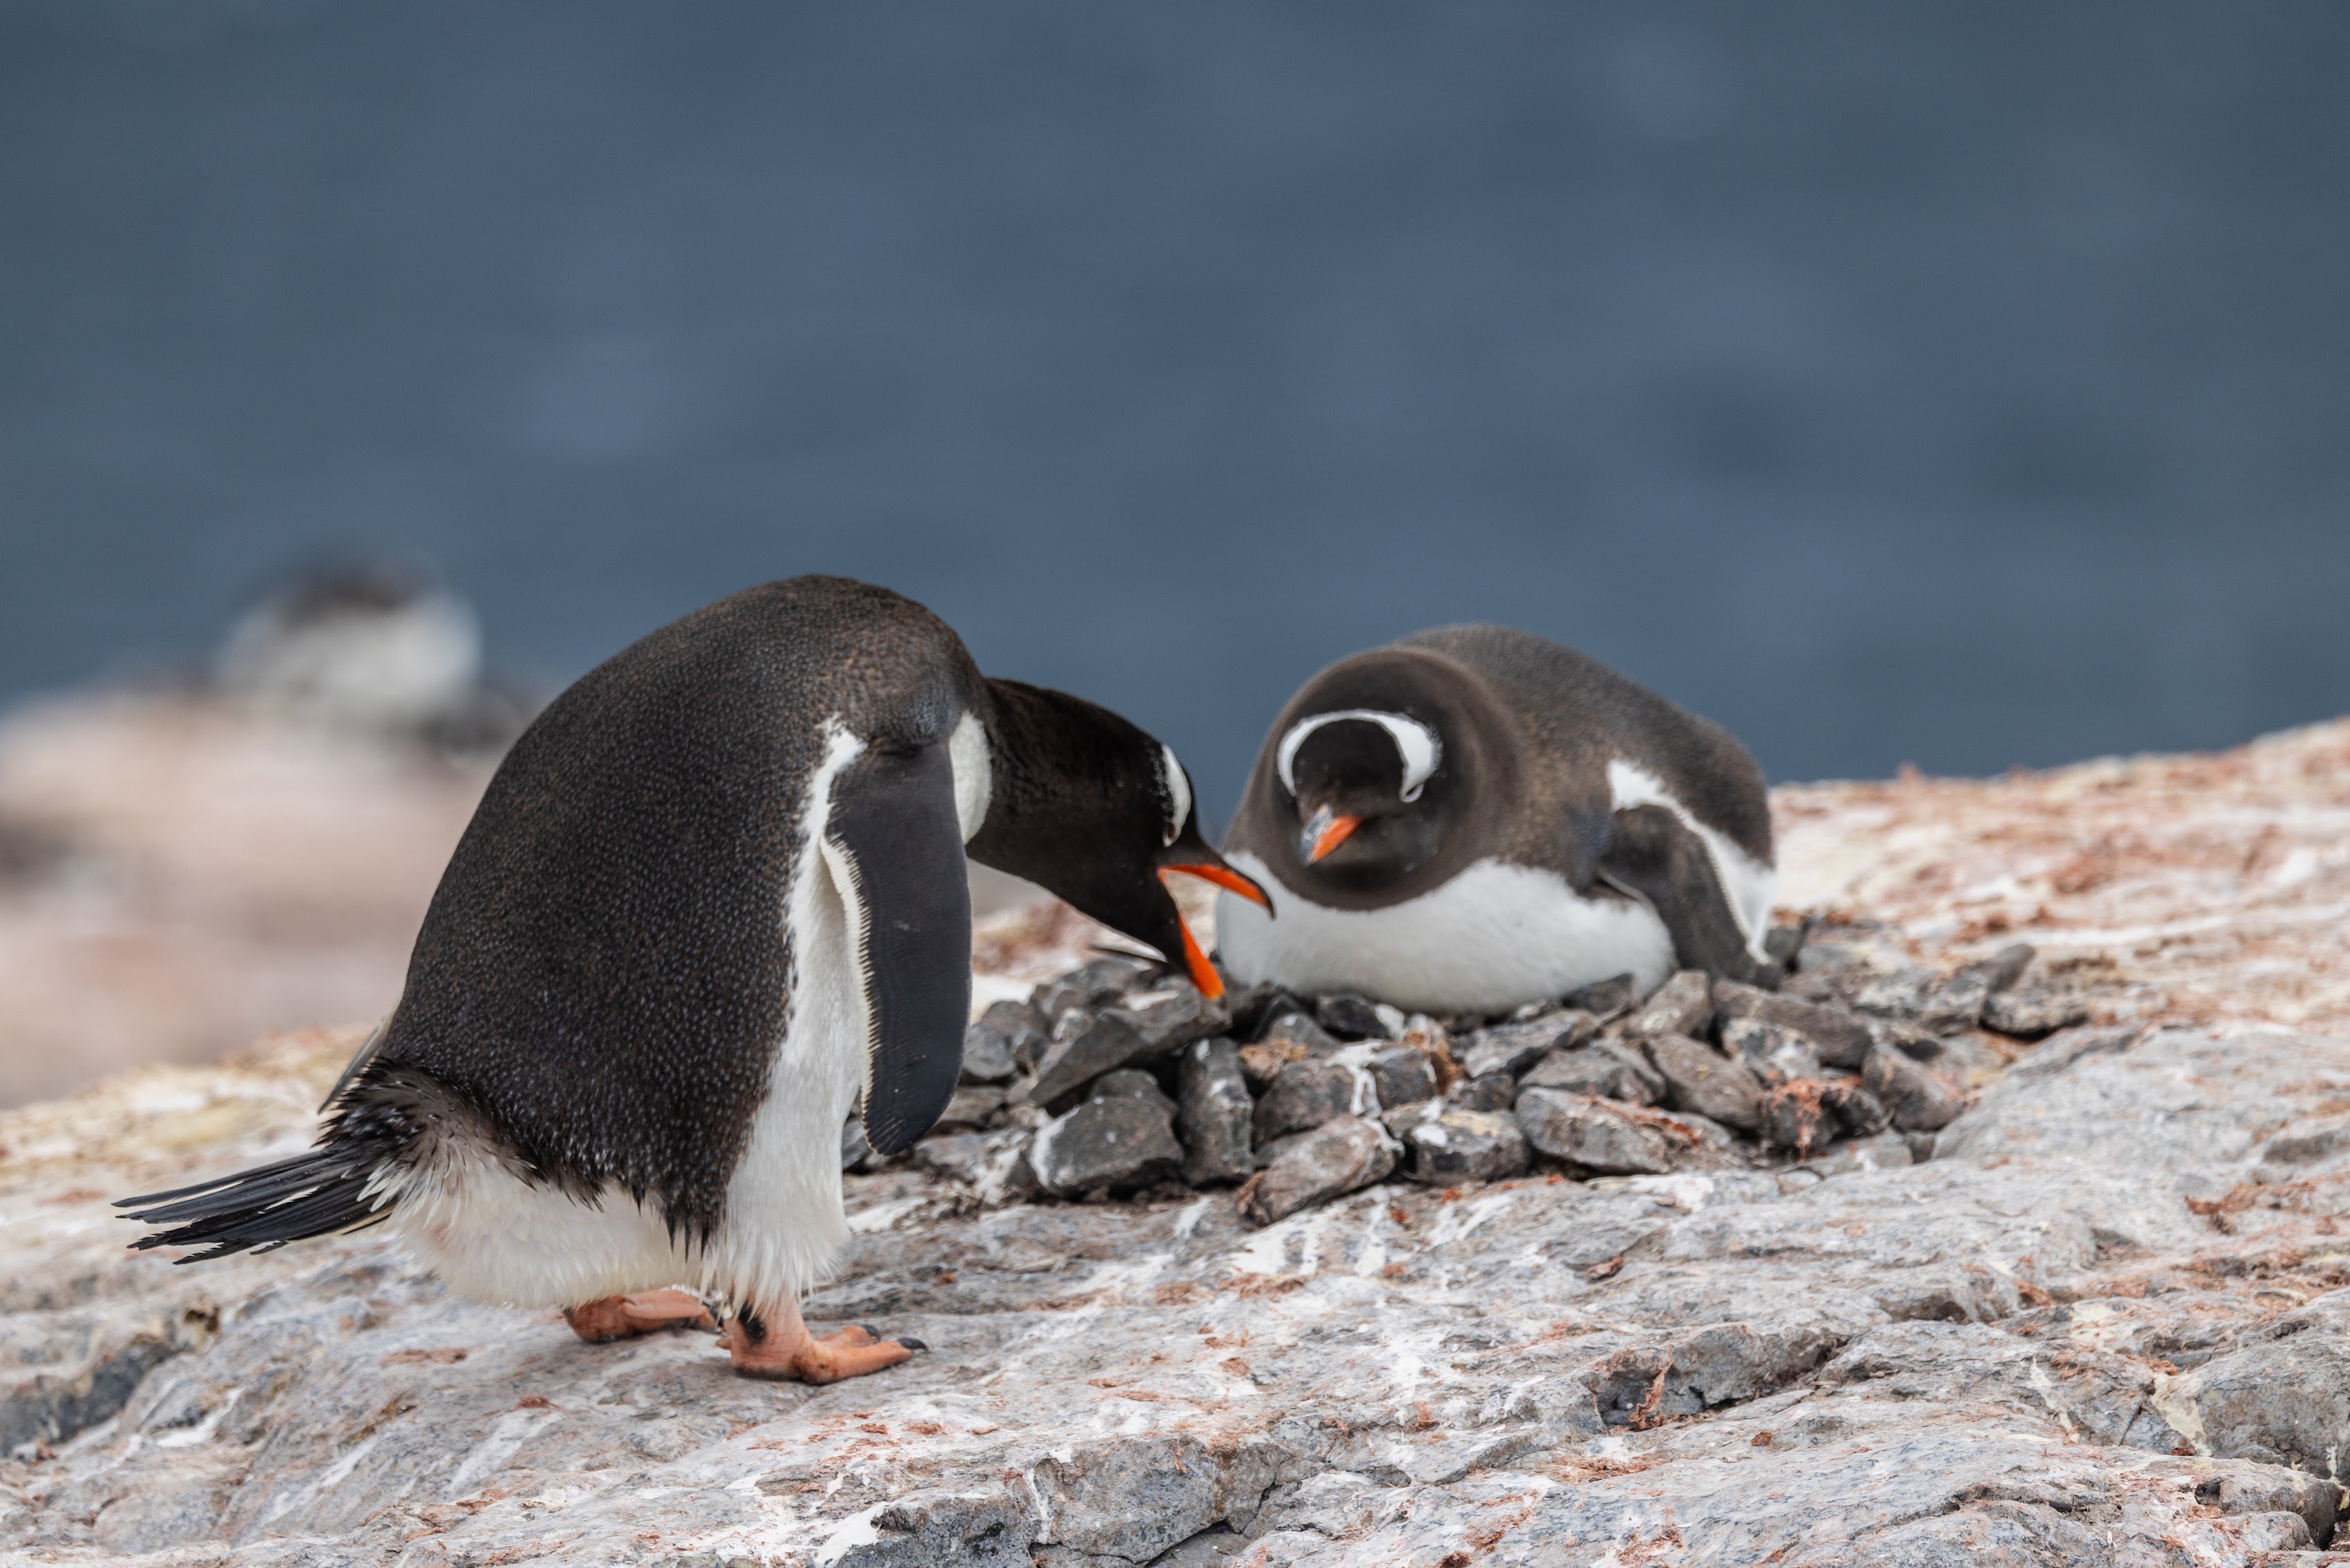
{"type": "Polygon", "coordinates": [[[848,571],[1222,811],[1584,646],[1779,778],[2350,708],[2350,9],[0,0],[0,696],[317,550],[848,571]]]}

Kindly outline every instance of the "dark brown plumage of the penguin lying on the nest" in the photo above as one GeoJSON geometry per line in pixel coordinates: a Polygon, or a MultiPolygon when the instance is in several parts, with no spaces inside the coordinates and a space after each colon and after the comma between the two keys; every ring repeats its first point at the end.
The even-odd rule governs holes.
{"type": "Polygon", "coordinates": [[[1647,905],[1678,964],[1770,983],[1739,914],[1767,872],[1716,860],[1699,827],[1770,867],[1762,773],[1727,731],[1574,649],[1448,625],[1309,679],[1274,719],[1224,849],[1349,912],[1410,905],[1478,863],[1549,872],[1577,900],[1647,905]],[[1316,715],[1335,717],[1300,729],[1316,715]],[[1382,722],[1342,715],[1426,731],[1415,755],[1434,766],[1408,776],[1382,722]],[[1622,797],[1617,764],[1633,769],[1622,797]]]}

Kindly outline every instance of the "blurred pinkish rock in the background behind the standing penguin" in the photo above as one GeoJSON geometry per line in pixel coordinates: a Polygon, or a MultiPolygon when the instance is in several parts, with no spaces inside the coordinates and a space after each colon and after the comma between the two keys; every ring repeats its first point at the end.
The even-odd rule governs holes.
{"type": "Polygon", "coordinates": [[[183,698],[14,715],[0,1105],[381,1016],[486,778],[183,698]]]}

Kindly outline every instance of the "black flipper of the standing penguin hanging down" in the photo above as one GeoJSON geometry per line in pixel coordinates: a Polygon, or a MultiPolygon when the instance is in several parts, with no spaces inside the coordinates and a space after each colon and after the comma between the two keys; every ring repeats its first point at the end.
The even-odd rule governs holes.
{"type": "Polygon", "coordinates": [[[834,783],[825,825],[848,872],[872,1091],[865,1138],[900,1154],[931,1131],[964,1070],[971,882],[947,748],[870,750],[834,783]]]}

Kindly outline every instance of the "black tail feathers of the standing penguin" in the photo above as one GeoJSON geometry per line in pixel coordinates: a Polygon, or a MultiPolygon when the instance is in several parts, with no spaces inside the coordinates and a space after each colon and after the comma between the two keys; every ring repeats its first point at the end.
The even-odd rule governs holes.
{"type": "Polygon", "coordinates": [[[200,1246],[176,1262],[204,1262],[247,1248],[268,1253],[287,1241],[367,1229],[390,1218],[390,1201],[369,1192],[383,1168],[381,1147],[350,1147],[329,1138],[322,1147],[273,1166],[254,1166],[195,1187],[120,1199],[125,1218],[172,1229],[139,1237],[134,1248],[200,1246]]]}

